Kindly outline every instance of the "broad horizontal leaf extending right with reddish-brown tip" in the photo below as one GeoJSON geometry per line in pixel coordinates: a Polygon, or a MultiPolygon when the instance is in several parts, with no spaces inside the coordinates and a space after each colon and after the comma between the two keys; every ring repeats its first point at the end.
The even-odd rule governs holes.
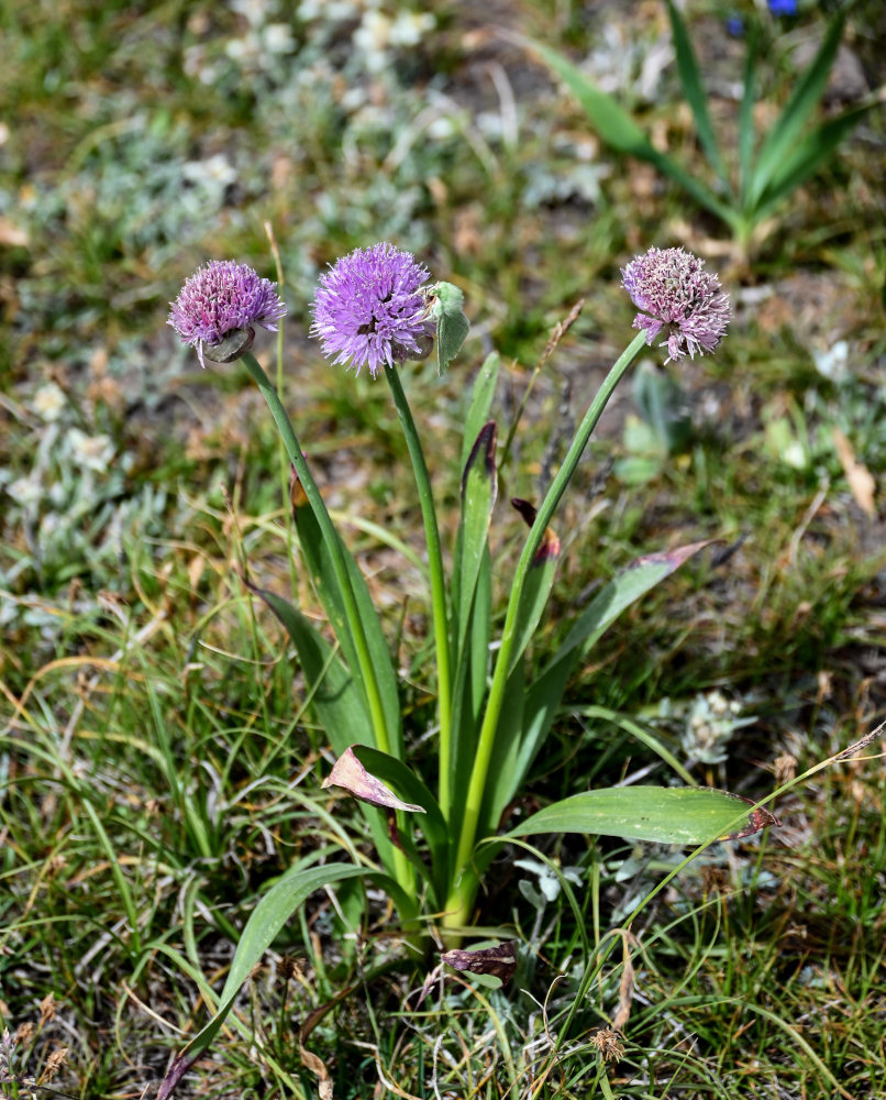
{"type": "Polygon", "coordinates": [[[752,836],[777,825],[762,809],[727,791],[701,787],[614,787],[555,802],[506,834],[590,833],[657,844],[698,845],[752,836]]]}

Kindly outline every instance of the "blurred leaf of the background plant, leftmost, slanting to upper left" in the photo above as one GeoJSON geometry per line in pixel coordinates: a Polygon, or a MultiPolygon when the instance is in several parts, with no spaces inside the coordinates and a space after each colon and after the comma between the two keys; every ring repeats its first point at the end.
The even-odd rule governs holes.
{"type": "Polygon", "coordinates": [[[679,184],[697,202],[722,218],[728,224],[732,226],[739,220],[738,213],[718,199],[709,187],[665,153],[660,153],[631,116],[619,107],[610,95],[601,91],[577,66],[540,42],[532,42],[531,46],[573,92],[584,108],[590,124],[607,145],[611,145],[618,153],[627,153],[654,165],[679,184]]]}

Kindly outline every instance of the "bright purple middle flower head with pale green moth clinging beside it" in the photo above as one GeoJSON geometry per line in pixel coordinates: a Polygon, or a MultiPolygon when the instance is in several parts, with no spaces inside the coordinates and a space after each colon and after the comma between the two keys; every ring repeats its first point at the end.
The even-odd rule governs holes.
{"type": "Polygon", "coordinates": [[[311,336],[334,363],[365,364],[373,377],[384,365],[423,359],[434,322],[421,289],[430,275],[392,244],[356,249],[320,276],[311,336]]]}

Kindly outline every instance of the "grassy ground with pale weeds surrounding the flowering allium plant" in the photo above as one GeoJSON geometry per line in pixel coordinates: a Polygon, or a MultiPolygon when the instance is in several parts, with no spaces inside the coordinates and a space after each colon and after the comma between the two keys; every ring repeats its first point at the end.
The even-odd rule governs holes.
{"type": "MultiPolygon", "coordinates": [[[[761,129],[823,26],[816,6],[800,7],[797,20],[764,20],[761,129]]],[[[751,4],[735,8],[751,16],[751,4]]],[[[679,715],[722,690],[755,721],[697,773],[749,796],[772,788],[776,767],[802,771],[882,718],[883,114],[867,117],[743,263],[684,196],[602,150],[514,38],[584,61],[661,147],[701,170],[664,7],[630,9],[12,0],[0,10],[8,1076],[97,1100],[155,1094],[206,1019],[263,887],[295,856],[362,843],[357,817],[320,790],[328,750],[303,713],[294,657],[239,576],[248,562],[264,584],[291,582],[319,615],[290,563],[269,417],[236,365],[200,372],[165,326],[167,302],[206,258],[274,278],[278,250],[286,402],[384,608],[419,756],[430,751],[431,648],[422,584],[396,541],[420,546],[405,447],[386,387],[326,365],[307,338],[318,274],[378,240],[467,296],[473,330],[450,375],[405,372],[450,544],[464,399],[489,349],[507,363],[495,406],[503,433],[552,327],[586,299],[534,385],[505,471],[502,499],[534,499],[630,339],[619,268],[650,245],[679,244],[705,255],[732,296],[717,358],[673,371],[691,420],[673,453],[656,450],[630,385],[608,410],[560,516],[563,564],[535,658],[556,644],[560,612],[636,556],[707,537],[733,552],[671,579],[595,651],[533,799],[645,767],[646,781],[666,781],[640,743],[583,716],[589,703],[657,722],[679,752],[679,715]],[[874,479],[873,512],[838,433],[874,479]],[[664,698],[676,717],[660,718],[664,698]]],[[[743,45],[726,14],[688,4],[729,147],[743,45]]],[[[857,6],[846,47],[872,88],[885,31],[881,4],[857,6]]],[[[850,95],[848,80],[826,111],[850,95]]],[[[273,339],[258,350],[270,362],[273,339]]],[[[500,505],[500,613],[518,524],[500,505]]],[[[407,994],[423,975],[386,934],[384,901],[364,910],[344,890],[317,897],[181,1092],[882,1097],[876,748],[820,772],[776,812],[780,829],[712,850],[658,894],[627,955],[606,934],[672,855],[549,838],[544,854],[569,869],[595,949],[613,948],[568,1027],[589,961],[563,891],[554,881],[549,900],[540,888],[542,865],[496,865],[483,902],[483,921],[522,944],[514,981],[490,991],[456,980],[419,1008],[407,994]],[[623,1056],[605,1062],[600,1028],[624,1005],[623,1056]]],[[[15,1080],[0,1089],[29,1094],[15,1080]]]]}

